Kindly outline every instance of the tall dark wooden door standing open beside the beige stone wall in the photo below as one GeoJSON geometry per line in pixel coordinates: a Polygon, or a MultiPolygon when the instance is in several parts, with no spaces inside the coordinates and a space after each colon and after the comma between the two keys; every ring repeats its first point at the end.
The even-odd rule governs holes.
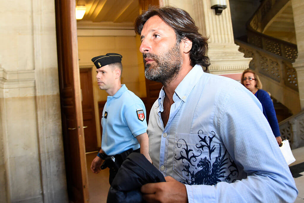
{"type": "Polygon", "coordinates": [[[69,201],[88,202],[75,0],[55,0],[64,158],[69,201]]]}

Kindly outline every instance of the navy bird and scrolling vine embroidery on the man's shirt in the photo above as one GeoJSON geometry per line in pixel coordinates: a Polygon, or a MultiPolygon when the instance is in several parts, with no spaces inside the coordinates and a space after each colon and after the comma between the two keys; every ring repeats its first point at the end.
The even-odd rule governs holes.
{"type": "Polygon", "coordinates": [[[184,163],[184,160],[188,162],[187,164],[183,165],[184,168],[182,169],[182,171],[185,171],[187,173],[186,176],[190,176],[191,181],[188,181],[187,184],[214,185],[223,180],[226,182],[234,182],[236,180],[234,179],[234,177],[237,177],[239,174],[237,165],[230,157],[229,153],[227,153],[226,149],[222,155],[221,144],[219,144],[218,146],[219,147],[218,156],[215,157],[215,160],[211,160],[211,154],[216,150],[216,146],[212,144],[212,140],[215,137],[215,133],[212,131],[211,136],[208,135],[202,136],[202,134],[203,131],[199,130],[198,131],[198,136],[200,138],[199,144],[195,145],[195,148],[197,148],[197,153],[194,152],[193,149],[188,148],[188,145],[184,139],[179,139],[177,142],[178,148],[181,148],[182,146],[181,141],[185,142],[185,147],[181,148],[182,150],[179,153],[180,157],[177,157],[177,155],[175,155],[174,158],[176,160],[181,160],[182,163],[184,163]],[[200,158],[200,160],[198,161],[195,167],[195,162],[197,161],[197,157],[199,157],[202,154],[204,148],[208,149],[209,159],[207,157],[200,158]],[[226,156],[227,154],[228,157],[226,156]],[[230,165],[228,165],[228,163],[230,163],[230,165]],[[194,168],[196,172],[194,172],[194,168]],[[197,171],[197,169],[199,170],[197,171]],[[229,170],[229,172],[227,171],[227,169],[229,170]],[[226,172],[229,174],[226,175],[225,174],[226,172]]]}

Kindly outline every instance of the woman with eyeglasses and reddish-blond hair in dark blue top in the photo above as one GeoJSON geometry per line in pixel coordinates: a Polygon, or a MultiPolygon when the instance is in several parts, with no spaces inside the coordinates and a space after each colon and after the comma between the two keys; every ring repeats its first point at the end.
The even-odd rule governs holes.
{"type": "MultiPolygon", "coordinates": [[[[278,119],[275,114],[275,108],[273,106],[273,102],[269,96],[269,94],[262,90],[262,83],[257,74],[252,70],[245,70],[242,74],[241,83],[251,91],[257,99],[261,102],[263,107],[263,114],[268,120],[268,123],[271,127],[275,138],[277,139],[278,144],[280,145],[282,142],[278,119]]],[[[281,145],[280,145],[281,146],[281,145]]]]}

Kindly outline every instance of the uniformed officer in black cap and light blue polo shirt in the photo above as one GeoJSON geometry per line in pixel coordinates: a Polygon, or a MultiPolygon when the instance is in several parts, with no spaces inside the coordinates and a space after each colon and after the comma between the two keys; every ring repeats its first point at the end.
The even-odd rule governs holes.
{"type": "Polygon", "coordinates": [[[124,159],[133,151],[142,153],[152,162],[148,153],[146,109],[141,99],[121,84],[121,59],[122,55],[116,53],[92,58],[99,89],[109,96],[102,111],[101,150],[92,161],[91,170],[99,173],[109,167],[110,184],[124,159]]]}

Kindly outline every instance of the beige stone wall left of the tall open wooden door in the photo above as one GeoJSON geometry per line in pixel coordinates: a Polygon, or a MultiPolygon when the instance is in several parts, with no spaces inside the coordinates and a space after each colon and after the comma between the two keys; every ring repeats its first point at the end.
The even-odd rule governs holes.
{"type": "Polygon", "coordinates": [[[0,7],[0,202],[67,202],[54,1],[0,7]]]}

